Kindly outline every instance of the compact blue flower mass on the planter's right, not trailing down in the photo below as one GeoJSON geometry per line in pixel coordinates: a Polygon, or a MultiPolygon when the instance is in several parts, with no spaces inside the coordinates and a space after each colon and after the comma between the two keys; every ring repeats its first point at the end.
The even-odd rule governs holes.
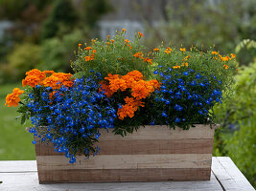
{"type": "MultiPolygon", "coordinates": [[[[159,66],[154,71],[161,82],[160,90],[155,91],[155,103],[158,110],[157,123],[173,127],[205,123],[211,120],[209,110],[221,102],[221,81],[215,76],[204,76],[191,69],[164,69],[159,66]]],[[[155,117],[151,124],[155,124],[155,117]]]]}

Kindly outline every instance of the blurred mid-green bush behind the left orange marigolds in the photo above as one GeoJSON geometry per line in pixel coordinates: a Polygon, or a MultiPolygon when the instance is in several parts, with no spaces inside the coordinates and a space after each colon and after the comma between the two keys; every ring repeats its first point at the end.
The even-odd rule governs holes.
{"type": "Polygon", "coordinates": [[[37,66],[40,70],[54,70],[56,72],[69,72],[70,57],[73,56],[73,50],[82,41],[83,32],[74,31],[65,34],[62,38],[50,38],[41,45],[41,63],[37,66]]]}

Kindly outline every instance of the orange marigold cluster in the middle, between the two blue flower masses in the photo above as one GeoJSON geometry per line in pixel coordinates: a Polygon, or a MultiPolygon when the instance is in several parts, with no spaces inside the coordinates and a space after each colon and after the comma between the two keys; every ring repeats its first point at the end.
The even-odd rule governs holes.
{"type": "Polygon", "coordinates": [[[108,74],[105,79],[108,81],[101,81],[100,91],[105,91],[105,96],[113,96],[117,91],[131,93],[131,97],[125,98],[125,105],[119,108],[117,115],[120,119],[125,117],[133,117],[134,112],[138,107],[144,107],[144,102],[141,100],[160,88],[160,84],[156,79],[150,81],[143,80],[143,74],[139,71],[132,71],[126,75],[108,74]]]}

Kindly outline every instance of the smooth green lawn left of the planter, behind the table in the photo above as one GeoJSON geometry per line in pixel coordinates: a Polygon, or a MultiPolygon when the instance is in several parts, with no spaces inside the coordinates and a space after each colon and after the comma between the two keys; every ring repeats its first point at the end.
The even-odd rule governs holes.
{"type": "Polygon", "coordinates": [[[12,92],[16,84],[0,85],[0,160],[35,159],[33,136],[25,131],[30,123],[21,125],[14,107],[4,106],[5,97],[12,92]]]}

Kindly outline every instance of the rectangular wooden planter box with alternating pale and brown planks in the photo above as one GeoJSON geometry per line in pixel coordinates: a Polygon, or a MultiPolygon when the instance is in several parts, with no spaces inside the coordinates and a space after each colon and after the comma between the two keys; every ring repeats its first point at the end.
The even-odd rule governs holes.
{"type": "Polygon", "coordinates": [[[147,126],[122,138],[104,130],[100,153],[74,164],[53,145],[36,143],[39,183],[210,180],[214,131],[147,126]]]}

